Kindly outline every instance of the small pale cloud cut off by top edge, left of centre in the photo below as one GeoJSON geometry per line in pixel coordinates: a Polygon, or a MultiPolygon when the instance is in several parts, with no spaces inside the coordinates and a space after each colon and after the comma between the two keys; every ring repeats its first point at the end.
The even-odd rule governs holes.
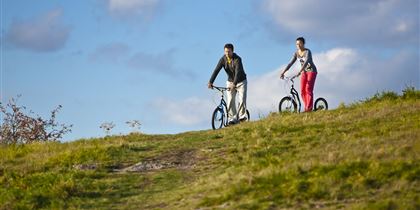
{"type": "Polygon", "coordinates": [[[142,16],[149,18],[153,15],[159,0],[108,0],[109,12],[121,18],[142,16]]]}

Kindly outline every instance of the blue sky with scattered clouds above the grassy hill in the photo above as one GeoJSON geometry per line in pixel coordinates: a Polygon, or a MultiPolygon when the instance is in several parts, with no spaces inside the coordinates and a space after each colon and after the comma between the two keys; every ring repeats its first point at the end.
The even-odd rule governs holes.
{"type": "MultiPolygon", "coordinates": [[[[258,119],[287,92],[279,72],[304,36],[332,108],[377,91],[420,87],[417,0],[1,0],[1,101],[47,118],[61,104],[64,140],[209,129],[208,79],[231,42],[258,119]]],[[[295,65],[296,66],[296,65],[295,65]]],[[[296,70],[294,70],[296,72],[296,70]]],[[[222,71],[216,84],[223,85],[222,71]]],[[[298,84],[299,85],[299,84],[298,84]]]]}

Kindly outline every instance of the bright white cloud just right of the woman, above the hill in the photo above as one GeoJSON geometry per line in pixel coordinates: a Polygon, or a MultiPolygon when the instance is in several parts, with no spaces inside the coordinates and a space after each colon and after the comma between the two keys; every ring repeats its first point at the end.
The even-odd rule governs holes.
{"type": "Polygon", "coordinates": [[[407,85],[419,88],[420,66],[416,56],[401,50],[389,57],[378,57],[348,48],[315,54],[314,60],[320,69],[318,90],[350,102],[377,91],[401,92],[407,85]],[[330,54],[338,56],[326,59],[330,54]]]}

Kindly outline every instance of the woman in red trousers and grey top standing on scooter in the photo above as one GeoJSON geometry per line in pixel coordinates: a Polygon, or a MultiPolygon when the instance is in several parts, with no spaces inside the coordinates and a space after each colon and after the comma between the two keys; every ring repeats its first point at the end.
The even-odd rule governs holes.
{"type": "Polygon", "coordinates": [[[302,74],[300,78],[300,91],[305,105],[305,112],[312,111],[313,107],[313,91],[315,86],[315,79],[317,75],[317,70],[314,62],[312,61],[312,53],[309,49],[305,48],[305,39],[299,37],[296,39],[296,48],[297,51],[293,54],[292,60],[286,66],[284,71],[280,74],[280,78],[284,78],[284,73],[292,67],[297,59],[299,59],[301,68],[299,73],[295,76],[298,77],[302,74]]]}

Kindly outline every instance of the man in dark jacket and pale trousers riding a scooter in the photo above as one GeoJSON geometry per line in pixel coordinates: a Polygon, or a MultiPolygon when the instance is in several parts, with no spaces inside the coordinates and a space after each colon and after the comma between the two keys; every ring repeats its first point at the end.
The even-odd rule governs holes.
{"type": "Polygon", "coordinates": [[[213,88],[213,82],[219,74],[222,67],[225,69],[228,76],[226,82],[227,91],[227,109],[228,109],[228,125],[232,125],[239,121],[246,121],[246,92],[247,80],[244,68],[242,66],[241,57],[233,52],[232,44],[225,44],[225,55],[220,58],[219,63],[214,69],[208,83],[209,88],[213,88]],[[238,94],[239,113],[236,110],[236,94],[238,94]]]}

